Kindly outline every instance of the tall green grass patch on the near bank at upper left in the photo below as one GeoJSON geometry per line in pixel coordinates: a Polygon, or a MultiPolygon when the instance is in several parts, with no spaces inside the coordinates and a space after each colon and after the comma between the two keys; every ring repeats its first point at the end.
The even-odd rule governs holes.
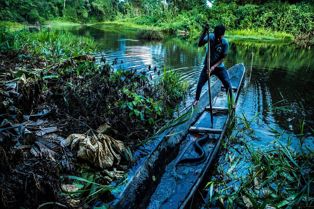
{"type": "Polygon", "coordinates": [[[26,50],[35,56],[45,56],[52,61],[59,61],[72,53],[92,54],[100,50],[101,45],[92,37],[77,36],[59,32],[29,32],[26,29],[11,32],[0,27],[1,53],[26,50]]]}

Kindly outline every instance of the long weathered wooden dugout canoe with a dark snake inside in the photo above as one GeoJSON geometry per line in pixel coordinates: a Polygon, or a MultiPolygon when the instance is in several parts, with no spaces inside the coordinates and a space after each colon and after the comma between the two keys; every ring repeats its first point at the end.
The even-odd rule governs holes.
{"type": "MultiPolygon", "coordinates": [[[[245,67],[243,64],[237,64],[227,72],[236,101],[245,67]]],[[[209,128],[210,114],[205,112],[205,109],[209,108],[207,90],[195,105],[196,110],[187,116],[188,121],[162,133],[162,136],[168,136],[162,137],[144,163],[127,180],[127,185],[113,203],[113,208],[183,209],[187,206],[217,155],[229,120],[226,95],[219,79],[211,85],[211,94],[214,100],[213,109],[218,110],[214,115],[214,128],[209,128]],[[204,160],[179,164],[175,169],[179,158],[198,156],[191,142],[202,137],[202,133],[209,134],[208,140],[202,145],[206,153],[204,160]]],[[[191,110],[192,107],[187,111],[191,110]]],[[[186,118],[182,121],[184,119],[186,118]]]]}

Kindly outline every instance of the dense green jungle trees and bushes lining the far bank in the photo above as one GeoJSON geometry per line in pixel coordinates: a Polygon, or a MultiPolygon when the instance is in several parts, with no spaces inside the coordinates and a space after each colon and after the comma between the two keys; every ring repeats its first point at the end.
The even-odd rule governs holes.
{"type": "Polygon", "coordinates": [[[314,1],[0,0],[0,20],[21,23],[127,21],[173,32],[205,22],[227,30],[263,28],[293,35],[314,31],[314,1]]]}

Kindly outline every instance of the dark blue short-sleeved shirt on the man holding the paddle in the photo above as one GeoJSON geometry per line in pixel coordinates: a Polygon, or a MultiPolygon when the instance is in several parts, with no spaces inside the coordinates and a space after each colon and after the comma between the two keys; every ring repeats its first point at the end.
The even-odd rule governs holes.
{"type": "MultiPolygon", "coordinates": [[[[229,43],[225,38],[222,38],[221,42],[217,45],[215,45],[214,40],[214,34],[209,34],[209,40],[210,40],[210,67],[214,66],[222,58],[223,54],[227,54],[229,51],[229,43]]],[[[204,38],[204,41],[207,43],[207,35],[204,38]]],[[[203,64],[207,65],[207,57],[208,57],[208,47],[206,47],[206,56],[204,59],[203,64]]],[[[222,62],[217,67],[224,67],[224,62],[222,62]]]]}

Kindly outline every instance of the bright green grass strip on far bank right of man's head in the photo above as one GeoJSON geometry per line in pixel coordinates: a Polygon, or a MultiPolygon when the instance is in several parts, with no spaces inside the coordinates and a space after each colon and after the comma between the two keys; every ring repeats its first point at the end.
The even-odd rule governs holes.
{"type": "Polygon", "coordinates": [[[294,37],[285,32],[276,32],[270,29],[237,29],[226,31],[226,38],[252,39],[252,40],[288,40],[293,41],[294,37]]]}

